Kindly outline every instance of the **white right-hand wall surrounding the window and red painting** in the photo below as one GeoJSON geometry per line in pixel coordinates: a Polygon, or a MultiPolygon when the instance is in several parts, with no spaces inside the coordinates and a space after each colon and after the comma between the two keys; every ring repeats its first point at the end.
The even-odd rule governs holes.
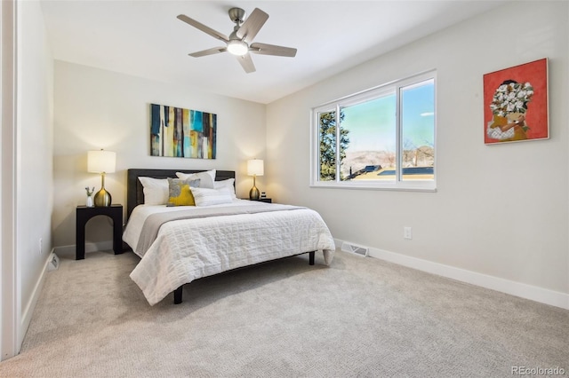
{"type": "Polygon", "coordinates": [[[268,193],[317,209],[338,240],[550,290],[569,308],[568,4],[517,4],[269,104],[268,193]],[[541,58],[551,138],[485,146],[483,75],[541,58]],[[432,68],[437,193],[309,188],[311,107],[432,68]]]}

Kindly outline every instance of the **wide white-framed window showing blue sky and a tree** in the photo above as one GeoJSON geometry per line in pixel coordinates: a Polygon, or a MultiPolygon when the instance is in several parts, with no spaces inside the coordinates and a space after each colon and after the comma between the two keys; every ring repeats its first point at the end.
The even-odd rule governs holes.
{"type": "Polygon", "coordinates": [[[313,109],[311,185],[435,189],[436,73],[313,109]]]}

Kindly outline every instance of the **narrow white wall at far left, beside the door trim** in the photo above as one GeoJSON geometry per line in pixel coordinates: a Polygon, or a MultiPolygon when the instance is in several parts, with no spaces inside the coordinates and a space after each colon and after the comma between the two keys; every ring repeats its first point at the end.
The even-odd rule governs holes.
{"type": "Polygon", "coordinates": [[[12,284],[18,296],[15,310],[18,351],[52,246],[53,67],[39,2],[17,2],[16,6],[15,251],[3,250],[3,253],[16,256],[12,284]]]}

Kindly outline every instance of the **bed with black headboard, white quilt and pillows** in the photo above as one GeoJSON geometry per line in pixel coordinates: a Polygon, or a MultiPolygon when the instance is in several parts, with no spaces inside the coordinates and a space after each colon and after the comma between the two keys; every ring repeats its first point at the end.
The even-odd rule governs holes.
{"type": "Polygon", "coordinates": [[[128,169],[126,201],[123,240],[140,256],[130,277],[150,305],[170,293],[174,303],[181,303],[185,284],[245,266],[307,253],[313,265],[317,251],[322,251],[325,264],[333,260],[333,237],[316,211],[239,200],[235,197],[235,171],[128,169]],[[197,183],[198,189],[192,188],[192,193],[199,206],[169,207],[151,199],[150,192],[145,199],[148,180],[164,185],[164,180],[180,172],[201,177],[202,183],[208,177],[205,173],[213,175],[214,189],[202,190],[199,179],[191,181],[197,183]],[[224,199],[228,193],[231,200],[202,201],[197,195],[204,191],[220,193],[224,199]]]}

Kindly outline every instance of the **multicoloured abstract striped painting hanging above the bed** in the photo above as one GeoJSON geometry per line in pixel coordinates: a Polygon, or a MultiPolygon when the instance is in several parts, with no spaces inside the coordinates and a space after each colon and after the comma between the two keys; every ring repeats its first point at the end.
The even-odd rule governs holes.
{"type": "Polygon", "coordinates": [[[215,159],[217,114],[150,104],[150,155],[215,159]]]}

